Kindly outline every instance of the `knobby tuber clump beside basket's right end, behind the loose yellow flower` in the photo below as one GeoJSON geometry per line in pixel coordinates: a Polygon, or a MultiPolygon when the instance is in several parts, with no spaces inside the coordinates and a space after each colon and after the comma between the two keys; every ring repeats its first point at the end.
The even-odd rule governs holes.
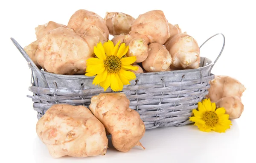
{"type": "Polygon", "coordinates": [[[209,84],[209,93],[206,98],[215,102],[216,106],[224,107],[230,119],[239,118],[244,111],[244,105],[241,102],[241,96],[246,90],[244,85],[230,76],[223,75],[215,75],[209,84]]]}

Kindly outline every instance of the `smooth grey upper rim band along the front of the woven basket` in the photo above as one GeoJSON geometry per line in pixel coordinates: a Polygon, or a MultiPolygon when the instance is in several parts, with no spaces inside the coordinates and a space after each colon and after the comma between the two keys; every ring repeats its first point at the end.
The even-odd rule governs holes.
{"type": "MultiPolygon", "coordinates": [[[[208,59],[206,57],[203,57],[201,56],[200,58],[203,58],[203,59],[208,59]]],[[[211,63],[209,65],[206,65],[204,67],[199,67],[199,68],[196,68],[196,69],[186,69],[186,70],[171,70],[171,71],[162,71],[162,72],[148,72],[148,73],[137,73],[135,74],[136,77],[137,76],[146,76],[146,75],[154,75],[154,74],[172,74],[172,73],[188,73],[188,72],[195,72],[195,71],[200,71],[202,69],[205,69],[205,68],[208,68],[208,67],[211,67],[214,65],[214,62],[212,62],[212,60],[208,59],[209,61],[211,61],[211,63]]],[[[34,70],[33,67],[31,67],[32,70],[34,70]]],[[[60,77],[60,78],[73,78],[73,79],[76,79],[76,78],[84,78],[84,79],[91,79],[91,78],[94,78],[95,76],[85,76],[85,75],[64,75],[64,74],[56,74],[56,73],[49,73],[47,71],[44,71],[44,70],[40,70],[41,73],[44,73],[44,74],[47,74],[47,75],[50,75],[50,76],[56,76],[56,77],[60,77]]]]}

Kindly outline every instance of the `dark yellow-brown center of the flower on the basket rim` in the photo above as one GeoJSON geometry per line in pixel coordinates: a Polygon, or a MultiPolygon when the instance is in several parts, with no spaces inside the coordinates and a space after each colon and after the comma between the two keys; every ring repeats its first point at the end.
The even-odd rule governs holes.
{"type": "Polygon", "coordinates": [[[121,59],[117,56],[107,56],[103,63],[108,73],[117,73],[121,69],[121,59]]]}

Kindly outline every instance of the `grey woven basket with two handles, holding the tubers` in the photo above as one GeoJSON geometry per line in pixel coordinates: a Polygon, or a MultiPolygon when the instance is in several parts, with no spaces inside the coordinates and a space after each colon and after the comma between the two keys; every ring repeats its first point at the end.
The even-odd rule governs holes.
{"type": "MultiPolygon", "coordinates": [[[[214,36],[216,35],[219,34],[214,36]]],[[[225,45],[225,37],[223,34],[221,36],[224,42],[215,62],[225,45]]],[[[15,39],[11,38],[11,40],[32,70],[32,86],[29,87],[29,91],[33,96],[28,97],[34,102],[33,107],[38,112],[38,119],[53,104],[88,107],[92,96],[112,92],[110,88],[104,92],[103,88],[94,86],[93,77],[59,75],[39,70],[15,39]]],[[[130,100],[131,109],[140,114],[146,129],[190,124],[191,110],[196,109],[198,102],[208,94],[209,81],[214,79],[211,70],[215,62],[201,57],[198,69],[137,74],[137,79],[131,81],[130,85],[124,86],[121,93],[125,93],[130,100]]]]}

